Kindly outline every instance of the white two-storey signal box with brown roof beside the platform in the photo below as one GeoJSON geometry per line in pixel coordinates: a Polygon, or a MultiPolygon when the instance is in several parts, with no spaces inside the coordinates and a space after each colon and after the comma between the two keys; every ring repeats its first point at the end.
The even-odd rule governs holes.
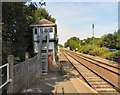
{"type": "Polygon", "coordinates": [[[30,25],[33,28],[33,42],[34,42],[34,53],[38,53],[39,43],[41,39],[41,53],[46,53],[48,45],[48,55],[53,55],[53,61],[57,58],[57,25],[46,19],[42,19],[39,22],[30,25]],[[41,35],[41,38],[40,38],[41,35]],[[47,39],[49,40],[47,42],[47,39]]]}

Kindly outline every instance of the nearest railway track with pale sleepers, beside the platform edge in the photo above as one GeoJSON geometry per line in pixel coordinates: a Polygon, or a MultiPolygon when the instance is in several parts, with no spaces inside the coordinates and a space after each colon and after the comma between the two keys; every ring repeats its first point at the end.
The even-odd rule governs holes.
{"type": "Polygon", "coordinates": [[[120,88],[116,87],[110,81],[106,80],[103,76],[98,74],[93,69],[86,66],[84,63],[80,62],[75,55],[70,54],[66,51],[61,51],[72,66],[79,72],[79,74],[84,78],[84,80],[99,93],[107,94],[119,94],[120,88]]]}

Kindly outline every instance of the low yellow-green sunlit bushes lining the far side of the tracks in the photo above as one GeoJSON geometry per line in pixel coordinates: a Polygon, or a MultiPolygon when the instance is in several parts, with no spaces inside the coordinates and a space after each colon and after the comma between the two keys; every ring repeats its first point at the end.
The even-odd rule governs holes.
{"type": "Polygon", "coordinates": [[[105,59],[117,61],[118,56],[120,56],[120,50],[114,51],[114,52],[109,52],[109,49],[106,47],[99,47],[97,45],[91,45],[87,44],[82,46],[79,49],[79,52],[85,53],[85,54],[90,54],[93,56],[99,56],[105,59]]]}

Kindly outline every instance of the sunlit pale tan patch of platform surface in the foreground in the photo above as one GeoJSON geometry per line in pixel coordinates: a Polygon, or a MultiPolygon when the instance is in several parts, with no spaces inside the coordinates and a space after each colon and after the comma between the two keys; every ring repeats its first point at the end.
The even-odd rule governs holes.
{"type": "Polygon", "coordinates": [[[76,78],[72,78],[65,82],[59,82],[57,85],[55,85],[55,90],[52,92],[54,95],[56,95],[56,93],[78,93],[78,95],[80,93],[97,93],[83,81],[76,78]]]}

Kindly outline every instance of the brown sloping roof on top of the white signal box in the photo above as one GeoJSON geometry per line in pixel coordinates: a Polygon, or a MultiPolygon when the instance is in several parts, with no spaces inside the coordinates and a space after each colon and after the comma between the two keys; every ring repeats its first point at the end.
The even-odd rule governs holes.
{"type": "Polygon", "coordinates": [[[35,22],[33,24],[31,24],[31,27],[35,27],[35,26],[39,26],[39,27],[45,27],[45,26],[55,26],[56,24],[47,20],[47,19],[42,19],[38,22],[35,22]]]}

